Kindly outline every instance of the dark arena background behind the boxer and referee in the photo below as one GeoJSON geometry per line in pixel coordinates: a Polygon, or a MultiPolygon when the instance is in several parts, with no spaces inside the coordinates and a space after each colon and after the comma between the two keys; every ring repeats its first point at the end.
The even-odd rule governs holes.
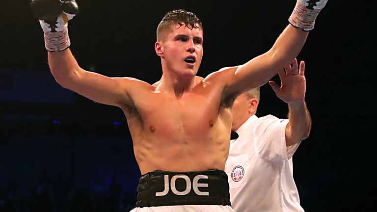
{"type": "MultiPolygon", "coordinates": [[[[71,50],[109,77],[161,78],[156,27],[177,8],[204,26],[198,75],[265,53],[295,0],[77,0],[71,50]]],[[[123,112],[61,88],[28,0],[0,0],[0,211],[129,211],[140,173],[123,112]]],[[[372,1],[329,0],[298,55],[306,62],[313,128],[294,157],[307,212],[371,211],[376,199],[372,1]]],[[[278,78],[274,77],[274,80],[278,78]]],[[[269,85],[258,116],[286,117],[269,85]]]]}

